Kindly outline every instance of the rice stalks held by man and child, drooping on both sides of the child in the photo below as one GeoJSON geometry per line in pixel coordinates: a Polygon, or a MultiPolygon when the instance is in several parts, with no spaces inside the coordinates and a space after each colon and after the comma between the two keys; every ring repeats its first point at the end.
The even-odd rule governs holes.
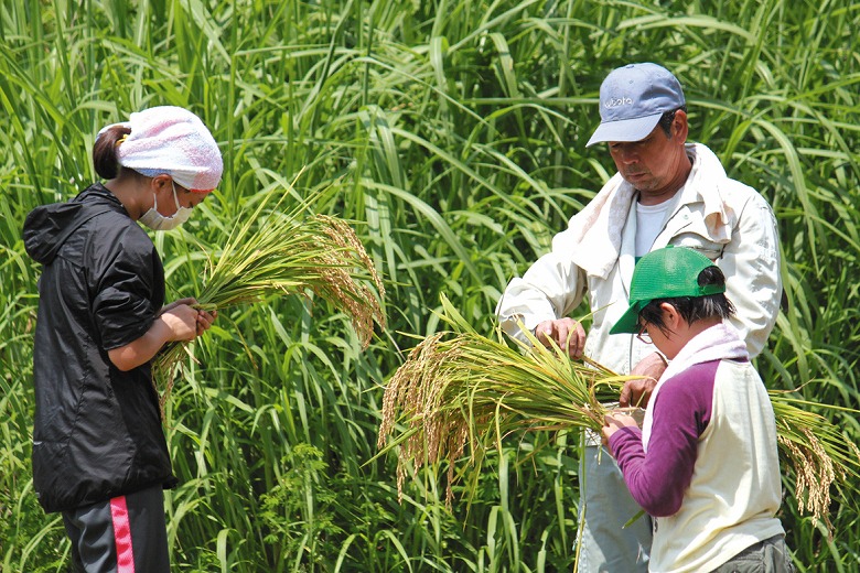
{"type": "MultiPolygon", "coordinates": [[[[476,473],[485,452],[501,448],[502,439],[513,432],[600,432],[606,411],[602,403],[616,401],[631,378],[590,360],[570,360],[557,347],[513,348],[501,332],[497,339],[476,333],[444,298],[442,307],[441,317],[452,331],[418,344],[385,390],[377,446],[380,455],[398,448],[400,496],[408,466],[417,471],[445,462],[450,502],[454,467],[466,445],[467,463],[476,473]]],[[[825,417],[804,410],[809,402],[787,392],[770,396],[781,461],[796,475],[798,509],[830,529],[830,488],[856,487],[860,452],[825,417]]]]}

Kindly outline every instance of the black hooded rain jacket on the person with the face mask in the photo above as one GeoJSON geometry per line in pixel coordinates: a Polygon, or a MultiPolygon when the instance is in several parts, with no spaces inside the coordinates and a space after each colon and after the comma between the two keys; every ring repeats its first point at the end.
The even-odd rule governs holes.
{"type": "Polygon", "coordinates": [[[108,358],[164,303],[152,240],[99,183],[33,209],[23,236],[43,266],[33,349],[40,504],[65,511],[174,486],[151,364],[123,372],[108,358]]]}

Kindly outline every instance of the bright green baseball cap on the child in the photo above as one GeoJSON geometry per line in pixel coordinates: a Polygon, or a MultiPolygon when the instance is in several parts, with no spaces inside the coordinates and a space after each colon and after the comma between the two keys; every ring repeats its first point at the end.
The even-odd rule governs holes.
{"type": "Polygon", "coordinates": [[[636,263],[630,289],[630,309],[610,334],[638,332],[639,312],[651,301],[677,296],[707,296],[725,292],[725,284],[699,285],[699,273],[716,267],[705,255],[686,247],[658,249],[636,263]]]}

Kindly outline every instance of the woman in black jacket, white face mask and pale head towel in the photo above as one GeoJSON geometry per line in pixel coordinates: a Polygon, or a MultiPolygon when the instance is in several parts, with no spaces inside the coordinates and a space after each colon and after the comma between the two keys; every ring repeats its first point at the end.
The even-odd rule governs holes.
{"type": "Polygon", "coordinates": [[[163,489],[176,483],[151,360],[209,328],[193,299],[163,306],[164,270],[138,225],[175,228],[221,181],[190,111],[157,107],[99,132],[94,183],[24,224],[42,263],[34,346],[33,477],[61,511],[78,571],[169,571],[163,489]]]}

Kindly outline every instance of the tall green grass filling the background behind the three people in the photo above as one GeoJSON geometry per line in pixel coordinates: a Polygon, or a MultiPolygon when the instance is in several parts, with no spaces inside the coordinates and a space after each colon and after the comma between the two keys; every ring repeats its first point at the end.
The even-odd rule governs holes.
{"type": "MultiPolygon", "coordinates": [[[[858,29],[848,0],[3,2],[1,569],[60,571],[69,552],[32,489],[40,271],[21,226],[94,181],[96,132],[147,106],[194,110],[225,158],[195,218],[155,237],[171,294],[193,295],[203,253],[302,167],[388,289],[366,352],[302,300],[238,309],[195,346],[165,425],[175,571],[572,570],[574,436],[507,444],[469,510],[444,508],[444,468],[398,504],[395,461],[369,461],[383,385],[439,327],[440,294],[491,332],[501,289],[612,173],[584,142],[602,78],[630,62],[676,73],[690,139],[775,208],[788,307],[757,360],[767,385],[860,407],[858,29]]],[[[857,420],[836,422],[857,442],[857,420]]],[[[798,570],[860,571],[856,493],[834,491],[828,540],[785,486],[798,570]]]]}

